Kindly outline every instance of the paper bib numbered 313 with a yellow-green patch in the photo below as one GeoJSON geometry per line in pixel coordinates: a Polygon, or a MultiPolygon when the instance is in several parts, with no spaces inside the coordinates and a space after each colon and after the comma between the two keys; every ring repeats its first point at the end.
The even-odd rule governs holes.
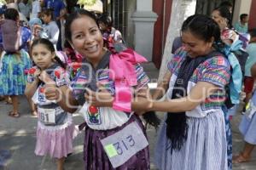
{"type": "Polygon", "coordinates": [[[113,168],[124,164],[131,156],[148,146],[148,140],[137,122],[131,122],[101,142],[113,168]]]}

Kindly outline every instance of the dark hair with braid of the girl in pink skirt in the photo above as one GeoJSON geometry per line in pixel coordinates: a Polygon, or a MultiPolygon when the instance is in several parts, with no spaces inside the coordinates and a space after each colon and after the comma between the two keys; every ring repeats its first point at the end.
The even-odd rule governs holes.
{"type": "MultiPolygon", "coordinates": [[[[39,38],[32,42],[31,50],[38,44],[44,44],[44,46],[49,49],[50,52],[55,53],[55,46],[52,42],[45,38],[39,38]]],[[[61,61],[59,57],[55,55],[55,60],[61,65],[62,68],[66,68],[66,65],[61,61]]]]}

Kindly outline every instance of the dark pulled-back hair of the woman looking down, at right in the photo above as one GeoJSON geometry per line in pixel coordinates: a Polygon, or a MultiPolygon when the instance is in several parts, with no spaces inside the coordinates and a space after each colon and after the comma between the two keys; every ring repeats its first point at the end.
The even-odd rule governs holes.
{"type": "Polygon", "coordinates": [[[214,37],[214,42],[220,41],[220,29],[218,24],[203,14],[195,14],[189,16],[183,22],[181,31],[191,31],[196,37],[211,42],[214,37]]]}

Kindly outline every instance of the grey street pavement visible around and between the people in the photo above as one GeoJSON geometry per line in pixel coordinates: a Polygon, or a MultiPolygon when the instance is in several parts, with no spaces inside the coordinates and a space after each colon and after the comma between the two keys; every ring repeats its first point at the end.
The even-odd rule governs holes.
{"type": "MultiPolygon", "coordinates": [[[[152,71],[153,69],[148,70],[152,71]]],[[[157,75],[154,70],[153,73],[157,75]]],[[[12,105],[6,105],[3,101],[0,102],[0,170],[55,170],[55,160],[50,159],[49,156],[35,156],[34,154],[38,119],[36,116],[31,115],[29,105],[24,96],[20,96],[19,109],[19,118],[10,117],[8,113],[12,111],[12,105]]],[[[239,153],[243,146],[243,140],[238,130],[241,114],[240,111],[237,112],[231,122],[234,153],[239,153]]],[[[158,115],[163,117],[164,113],[158,113],[158,115]]],[[[77,114],[73,115],[73,121],[76,124],[83,122],[81,118],[77,114]]],[[[154,143],[156,140],[154,127],[148,127],[147,133],[150,146],[151,169],[156,169],[153,163],[154,143]]],[[[84,169],[83,140],[84,133],[80,133],[74,139],[74,152],[71,156],[67,157],[65,170],[84,169]]],[[[234,165],[233,169],[255,170],[256,149],[253,150],[252,161],[234,165]]]]}

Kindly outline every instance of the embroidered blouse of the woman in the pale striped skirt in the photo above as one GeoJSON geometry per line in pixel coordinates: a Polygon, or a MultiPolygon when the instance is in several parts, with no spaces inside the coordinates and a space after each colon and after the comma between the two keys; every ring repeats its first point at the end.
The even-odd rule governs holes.
{"type": "MultiPolygon", "coordinates": [[[[172,77],[169,83],[168,97],[172,98],[172,88],[177,79],[177,74],[180,71],[180,66],[187,53],[183,48],[179,48],[172,60],[168,63],[168,69],[172,72],[172,77]]],[[[219,87],[219,90],[210,95],[205,102],[198,105],[193,111],[186,111],[187,116],[203,117],[208,113],[219,110],[224,105],[226,94],[224,87],[230,82],[230,63],[223,56],[215,56],[201,63],[193,72],[189,79],[187,92],[195,87],[197,82],[210,82],[219,87]]]]}

